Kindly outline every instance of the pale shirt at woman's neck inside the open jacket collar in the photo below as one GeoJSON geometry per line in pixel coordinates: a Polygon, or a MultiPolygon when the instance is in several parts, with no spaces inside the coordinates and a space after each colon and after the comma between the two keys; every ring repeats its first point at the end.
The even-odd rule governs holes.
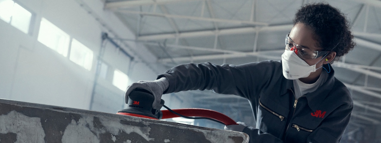
{"type": "Polygon", "coordinates": [[[298,100],[299,97],[305,95],[306,93],[311,93],[317,90],[317,88],[324,84],[327,78],[328,73],[323,71],[322,74],[320,74],[319,79],[317,79],[313,84],[306,84],[301,82],[299,79],[293,80],[296,100],[298,100]]]}

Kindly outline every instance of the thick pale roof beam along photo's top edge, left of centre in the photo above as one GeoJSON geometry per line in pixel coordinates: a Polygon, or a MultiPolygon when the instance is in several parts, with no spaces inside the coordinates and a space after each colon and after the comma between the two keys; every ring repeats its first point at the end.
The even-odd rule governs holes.
{"type": "Polygon", "coordinates": [[[164,5],[168,3],[179,3],[179,2],[193,2],[202,0],[124,0],[117,2],[106,2],[104,5],[105,9],[118,9],[118,8],[130,8],[138,7],[142,5],[164,5]]]}

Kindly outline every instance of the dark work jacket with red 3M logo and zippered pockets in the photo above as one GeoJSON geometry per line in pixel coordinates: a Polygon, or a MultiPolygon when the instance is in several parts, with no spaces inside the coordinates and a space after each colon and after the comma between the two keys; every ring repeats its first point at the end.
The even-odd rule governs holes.
{"type": "Polygon", "coordinates": [[[298,100],[293,81],[283,77],[280,61],[239,66],[183,64],[158,78],[170,81],[165,93],[213,90],[247,98],[256,119],[256,128],[243,130],[250,143],[337,143],[348,125],[353,101],[347,87],[333,75],[331,68],[322,86],[298,100]]]}

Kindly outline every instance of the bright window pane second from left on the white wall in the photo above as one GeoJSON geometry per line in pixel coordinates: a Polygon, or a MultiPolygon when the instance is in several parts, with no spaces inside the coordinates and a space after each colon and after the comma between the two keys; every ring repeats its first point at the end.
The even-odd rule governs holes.
{"type": "Polygon", "coordinates": [[[37,40],[59,54],[67,56],[70,36],[45,18],[41,19],[37,40]]]}

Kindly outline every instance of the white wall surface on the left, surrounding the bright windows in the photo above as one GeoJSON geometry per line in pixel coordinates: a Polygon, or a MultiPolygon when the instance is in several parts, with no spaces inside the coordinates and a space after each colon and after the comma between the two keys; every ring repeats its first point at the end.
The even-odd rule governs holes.
{"type": "MultiPolygon", "coordinates": [[[[0,98],[32,103],[89,109],[93,95],[97,58],[101,48],[101,33],[110,37],[134,39],[113,13],[103,10],[101,0],[14,0],[32,14],[31,33],[25,34],[0,19],[0,98]],[[80,5],[80,3],[84,5],[80,5]],[[90,12],[89,12],[90,11],[90,12]],[[91,71],[78,66],[37,41],[41,18],[46,18],[94,52],[91,71]],[[97,19],[98,18],[98,19],[97,19]],[[104,23],[102,23],[104,22],[104,23]],[[102,23],[102,24],[101,24],[102,23]]],[[[155,62],[142,45],[120,43],[134,55],[130,83],[154,80],[158,73],[142,61],[155,62]],[[141,56],[141,53],[145,53],[141,56]]],[[[108,78],[98,79],[94,110],[108,104],[124,104],[124,91],[112,85],[112,71],[117,68],[128,74],[129,58],[107,43],[103,60],[109,66],[108,78]],[[99,96],[97,96],[99,95],[99,96]],[[110,95],[110,96],[109,96],[110,95]]],[[[115,107],[107,111],[112,112],[115,107]]],[[[115,111],[116,112],[116,111],[115,111]]]]}

